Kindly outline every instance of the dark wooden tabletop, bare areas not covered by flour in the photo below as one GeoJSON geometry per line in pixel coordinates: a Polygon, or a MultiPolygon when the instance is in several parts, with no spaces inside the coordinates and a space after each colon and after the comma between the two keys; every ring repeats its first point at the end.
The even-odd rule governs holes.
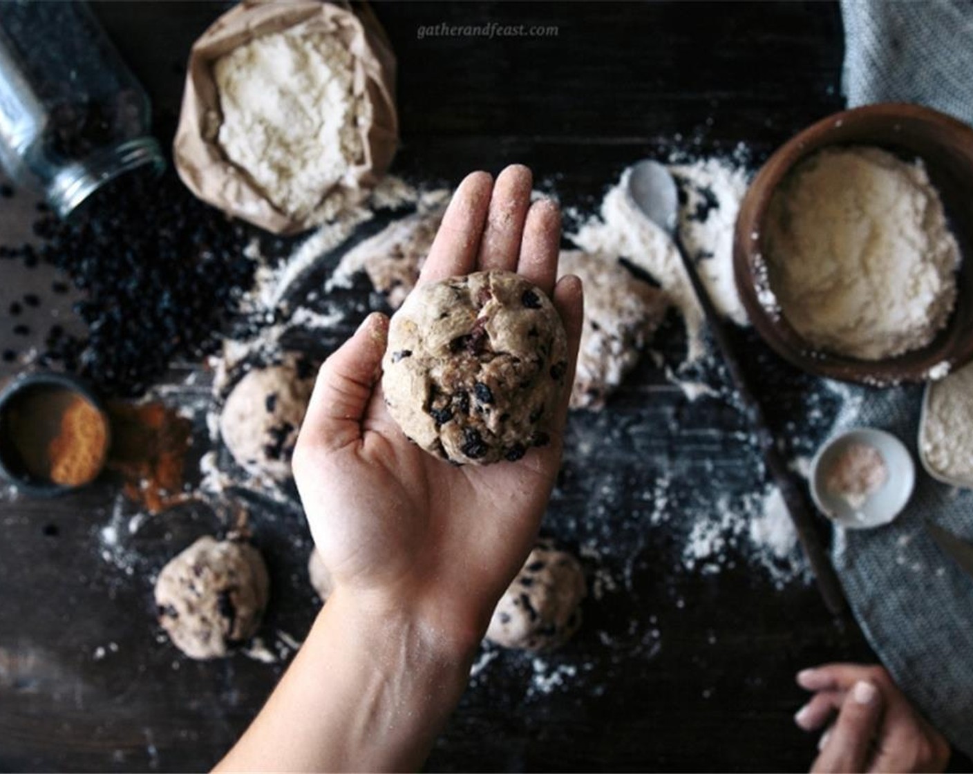
{"type": "MultiPolygon", "coordinates": [[[[220,8],[96,6],[156,109],[170,116],[189,46],[220,8]]],[[[744,142],[759,160],[841,106],[842,29],[830,3],[402,3],[376,12],[399,59],[394,170],[415,179],[455,182],[473,168],[523,162],[555,180],[564,203],[591,210],[625,166],[679,145],[677,134],[701,153],[744,142]],[[419,25],[490,21],[554,24],[558,34],[417,35],[419,25]]],[[[753,362],[777,396],[791,396],[775,401],[775,422],[788,413],[800,422],[801,380],[766,354],[753,362]]],[[[794,673],[874,657],[853,628],[831,619],[813,586],[777,590],[743,562],[714,575],[686,571],[671,535],[638,522],[634,494],[666,473],[683,485],[676,511],[679,497],[701,486],[762,485],[732,406],[689,404],[646,364],[612,411],[573,421],[576,441],[617,436],[617,454],[592,461],[569,449],[547,522],[569,543],[616,529],[637,543],[605,559],[630,562],[629,588],[603,607],[591,602],[589,626],[557,657],[590,663],[594,674],[531,693],[529,660],[499,657],[502,669],[491,666],[464,698],[428,769],[806,768],[814,740],[791,719],[802,702],[794,673]],[[624,640],[613,627],[650,616],[636,633],[649,645],[617,659],[602,652],[596,631],[624,640]]],[[[150,577],[206,521],[183,512],[140,531],[128,575],[100,556],[113,495],[104,486],[0,504],[0,769],[207,767],[283,668],[242,655],[194,663],[157,639],[150,577]]],[[[309,542],[298,516],[280,527],[286,518],[258,518],[256,539],[277,589],[268,625],[300,638],[315,605],[306,550],[294,544],[309,542]]]]}

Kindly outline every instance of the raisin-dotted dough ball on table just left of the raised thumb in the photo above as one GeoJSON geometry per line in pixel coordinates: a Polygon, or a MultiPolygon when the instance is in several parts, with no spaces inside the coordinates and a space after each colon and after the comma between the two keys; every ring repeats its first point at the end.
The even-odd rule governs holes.
{"type": "Polygon", "coordinates": [[[314,381],[297,362],[254,368],[234,387],[220,434],[237,464],[255,476],[291,477],[291,457],[314,381]]]}

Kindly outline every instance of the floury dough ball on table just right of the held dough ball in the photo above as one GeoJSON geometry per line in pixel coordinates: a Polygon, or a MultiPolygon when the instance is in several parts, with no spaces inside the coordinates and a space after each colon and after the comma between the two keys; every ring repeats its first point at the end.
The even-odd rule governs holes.
{"type": "Polygon", "coordinates": [[[560,253],[559,275],[585,287],[585,320],[571,408],[598,409],[618,388],[666,316],[666,294],[617,261],[580,250],[560,253]]]}

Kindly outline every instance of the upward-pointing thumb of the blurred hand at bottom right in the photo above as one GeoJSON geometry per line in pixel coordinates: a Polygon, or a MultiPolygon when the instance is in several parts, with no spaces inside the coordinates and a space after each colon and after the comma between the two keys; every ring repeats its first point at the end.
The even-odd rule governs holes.
{"type": "Polygon", "coordinates": [[[872,682],[856,682],[811,771],[864,771],[881,715],[879,688],[872,682]]]}

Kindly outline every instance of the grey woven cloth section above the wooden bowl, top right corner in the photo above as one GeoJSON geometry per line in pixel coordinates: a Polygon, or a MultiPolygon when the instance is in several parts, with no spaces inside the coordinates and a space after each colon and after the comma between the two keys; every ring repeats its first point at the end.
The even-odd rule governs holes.
{"type": "Polygon", "coordinates": [[[842,0],[848,107],[916,102],[973,124],[971,0],[842,0]]]}

